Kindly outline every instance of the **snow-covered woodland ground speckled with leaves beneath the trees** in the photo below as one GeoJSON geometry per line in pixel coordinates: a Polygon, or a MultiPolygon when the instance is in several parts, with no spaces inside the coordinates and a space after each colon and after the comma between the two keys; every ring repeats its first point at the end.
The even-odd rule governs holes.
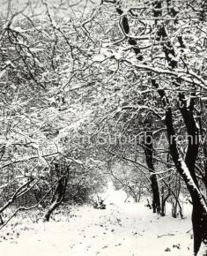
{"type": "MultiPolygon", "coordinates": [[[[190,209],[185,218],[160,217],[137,203],[107,209],[72,207],[50,222],[13,220],[1,230],[4,256],[189,256],[193,255],[190,209]],[[28,222],[30,221],[30,224],[28,222]],[[15,226],[15,228],[14,228],[15,226]]],[[[31,217],[32,218],[32,217],[31,217]]],[[[202,248],[199,255],[204,253],[202,248]]]]}

